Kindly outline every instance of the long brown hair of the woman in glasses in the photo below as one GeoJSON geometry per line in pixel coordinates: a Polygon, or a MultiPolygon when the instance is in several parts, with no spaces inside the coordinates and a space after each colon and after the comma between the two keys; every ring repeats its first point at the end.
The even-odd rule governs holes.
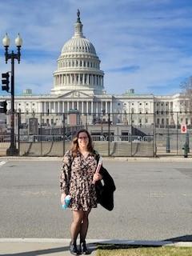
{"type": "Polygon", "coordinates": [[[90,137],[90,133],[86,129],[81,129],[78,130],[78,132],[74,135],[73,141],[72,141],[72,146],[71,146],[71,151],[73,154],[73,157],[76,157],[78,154],[79,146],[78,146],[78,135],[80,133],[86,133],[87,137],[89,138],[89,142],[87,145],[87,150],[93,154],[94,153],[94,146],[92,144],[92,138],[90,137]]]}

